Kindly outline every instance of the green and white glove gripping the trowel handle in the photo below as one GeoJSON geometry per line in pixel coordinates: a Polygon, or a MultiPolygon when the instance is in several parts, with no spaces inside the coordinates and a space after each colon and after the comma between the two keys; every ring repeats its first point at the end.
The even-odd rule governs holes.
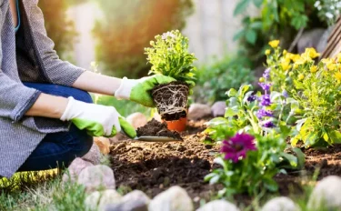
{"type": "Polygon", "coordinates": [[[68,97],[62,121],[71,121],[76,127],[87,131],[89,136],[112,137],[123,129],[131,138],[136,136],[135,128],[120,116],[115,107],[87,104],[68,97]]]}

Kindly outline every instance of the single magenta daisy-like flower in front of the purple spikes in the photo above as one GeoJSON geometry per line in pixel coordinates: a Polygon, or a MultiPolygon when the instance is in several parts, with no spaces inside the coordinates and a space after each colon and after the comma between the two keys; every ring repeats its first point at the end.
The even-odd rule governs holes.
{"type": "Polygon", "coordinates": [[[236,134],[230,140],[223,141],[223,146],[220,150],[225,154],[226,160],[232,160],[237,163],[239,157],[246,157],[246,152],[256,150],[255,137],[248,134],[236,134]]]}

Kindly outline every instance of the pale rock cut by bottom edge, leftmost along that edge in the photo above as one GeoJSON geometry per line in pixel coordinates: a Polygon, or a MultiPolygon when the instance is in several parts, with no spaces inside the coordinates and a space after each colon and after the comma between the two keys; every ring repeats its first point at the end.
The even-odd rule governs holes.
{"type": "Polygon", "coordinates": [[[105,210],[110,203],[119,203],[122,200],[115,190],[95,191],[85,198],[85,206],[88,210],[105,210]]]}

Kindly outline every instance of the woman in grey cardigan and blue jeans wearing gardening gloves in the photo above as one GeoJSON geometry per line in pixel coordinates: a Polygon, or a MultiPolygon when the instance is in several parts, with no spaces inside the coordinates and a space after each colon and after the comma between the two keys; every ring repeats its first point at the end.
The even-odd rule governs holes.
{"type": "Polygon", "coordinates": [[[38,0],[0,0],[0,177],[67,166],[84,156],[92,136],[135,130],[114,107],[87,92],[154,106],[149,91],[174,79],[97,75],[58,58],[38,0]],[[90,136],[91,135],[91,136],[90,136]]]}

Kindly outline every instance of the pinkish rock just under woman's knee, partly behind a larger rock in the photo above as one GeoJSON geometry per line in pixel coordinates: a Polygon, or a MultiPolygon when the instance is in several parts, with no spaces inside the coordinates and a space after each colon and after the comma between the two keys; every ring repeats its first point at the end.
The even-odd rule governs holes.
{"type": "Polygon", "coordinates": [[[94,166],[94,165],[79,157],[75,158],[75,160],[68,167],[68,172],[66,172],[63,175],[63,178],[62,178],[63,183],[66,183],[66,182],[75,183],[81,171],[85,169],[85,167],[87,166],[94,166]]]}

